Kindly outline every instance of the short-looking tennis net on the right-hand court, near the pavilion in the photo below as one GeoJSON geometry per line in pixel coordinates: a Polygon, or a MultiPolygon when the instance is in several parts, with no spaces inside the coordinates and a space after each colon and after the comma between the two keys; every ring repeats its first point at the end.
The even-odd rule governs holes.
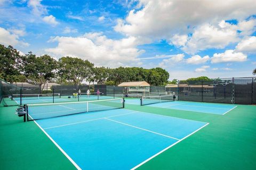
{"type": "Polygon", "coordinates": [[[168,102],[174,101],[173,95],[164,95],[164,96],[149,96],[149,97],[141,97],[140,105],[150,105],[154,103],[168,102]]]}

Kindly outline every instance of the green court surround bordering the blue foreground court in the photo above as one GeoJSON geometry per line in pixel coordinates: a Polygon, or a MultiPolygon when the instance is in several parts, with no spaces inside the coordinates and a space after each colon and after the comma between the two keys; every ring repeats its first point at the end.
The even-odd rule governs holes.
{"type": "MultiPolygon", "coordinates": [[[[125,108],[209,122],[138,169],[256,169],[256,106],[238,105],[225,115],[150,105],[125,108]]],[[[1,169],[76,169],[33,121],[23,123],[14,109],[0,107],[1,169]]]]}

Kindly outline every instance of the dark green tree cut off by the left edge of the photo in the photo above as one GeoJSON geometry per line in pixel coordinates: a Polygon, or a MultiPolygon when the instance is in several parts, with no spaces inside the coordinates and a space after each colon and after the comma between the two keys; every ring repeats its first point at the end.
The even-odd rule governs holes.
{"type": "Polygon", "coordinates": [[[17,82],[17,78],[21,75],[19,71],[20,60],[21,56],[17,49],[12,46],[0,45],[0,78],[10,83],[17,82]]]}

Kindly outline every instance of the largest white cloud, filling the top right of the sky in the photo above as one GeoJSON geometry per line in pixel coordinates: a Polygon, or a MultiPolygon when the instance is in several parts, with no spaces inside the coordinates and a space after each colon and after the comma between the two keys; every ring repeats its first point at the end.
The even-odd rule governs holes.
{"type": "Polygon", "coordinates": [[[190,28],[205,22],[244,20],[255,14],[255,8],[254,0],[140,0],[137,10],[131,10],[125,20],[117,20],[115,30],[130,36],[170,39],[177,32],[188,33],[190,28]]]}

